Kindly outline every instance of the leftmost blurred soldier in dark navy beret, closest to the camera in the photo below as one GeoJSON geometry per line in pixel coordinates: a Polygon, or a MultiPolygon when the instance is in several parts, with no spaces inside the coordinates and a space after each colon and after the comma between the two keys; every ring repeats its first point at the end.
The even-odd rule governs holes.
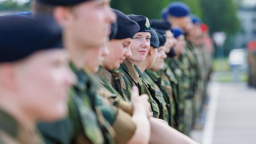
{"type": "Polygon", "coordinates": [[[1,17],[0,33],[0,143],[43,144],[36,123],[65,117],[76,82],[61,29],[52,19],[14,14],[1,17]]]}

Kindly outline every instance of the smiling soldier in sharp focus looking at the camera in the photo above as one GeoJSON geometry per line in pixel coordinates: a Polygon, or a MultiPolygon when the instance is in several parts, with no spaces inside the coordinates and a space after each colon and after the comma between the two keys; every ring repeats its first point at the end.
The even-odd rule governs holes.
{"type": "Polygon", "coordinates": [[[139,89],[140,95],[141,94],[149,95],[149,102],[151,103],[151,111],[152,111],[153,117],[159,118],[160,112],[159,112],[158,104],[150,95],[150,91],[149,91],[150,87],[141,78],[142,74],[141,73],[138,74],[139,70],[138,69],[136,70],[134,68],[135,62],[145,60],[146,54],[150,49],[151,22],[148,20],[148,18],[144,16],[128,15],[128,17],[139,24],[140,30],[138,33],[134,35],[134,39],[131,44],[132,56],[129,58],[126,58],[124,62],[121,64],[121,66],[118,68],[118,71],[123,73],[124,76],[120,79],[120,84],[118,84],[121,86],[121,88],[116,87],[116,89],[122,92],[121,95],[123,94],[123,96],[126,96],[128,99],[130,99],[131,87],[137,86],[139,89]],[[139,45],[140,47],[138,48],[137,45],[139,45]]]}

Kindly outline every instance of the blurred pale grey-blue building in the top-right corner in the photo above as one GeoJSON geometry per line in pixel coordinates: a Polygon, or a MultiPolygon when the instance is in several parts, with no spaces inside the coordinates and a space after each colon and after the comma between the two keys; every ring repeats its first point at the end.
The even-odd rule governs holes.
{"type": "Polygon", "coordinates": [[[234,48],[244,48],[246,44],[256,38],[256,0],[238,0],[238,18],[241,31],[234,38],[234,48]]]}

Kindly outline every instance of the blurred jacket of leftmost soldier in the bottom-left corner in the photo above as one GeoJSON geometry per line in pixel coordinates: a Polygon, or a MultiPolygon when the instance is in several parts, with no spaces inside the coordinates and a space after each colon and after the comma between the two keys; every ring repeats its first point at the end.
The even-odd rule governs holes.
{"type": "Polygon", "coordinates": [[[36,129],[29,130],[0,110],[0,144],[44,144],[44,142],[36,129]]]}

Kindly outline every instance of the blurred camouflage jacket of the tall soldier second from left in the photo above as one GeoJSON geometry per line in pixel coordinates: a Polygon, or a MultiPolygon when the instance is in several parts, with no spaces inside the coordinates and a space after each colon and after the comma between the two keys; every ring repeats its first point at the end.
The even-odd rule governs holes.
{"type": "Polygon", "coordinates": [[[102,98],[97,94],[98,84],[86,70],[71,69],[77,75],[78,83],[70,92],[69,115],[54,123],[38,125],[46,142],[62,144],[112,144],[114,131],[103,117],[102,98]]]}

